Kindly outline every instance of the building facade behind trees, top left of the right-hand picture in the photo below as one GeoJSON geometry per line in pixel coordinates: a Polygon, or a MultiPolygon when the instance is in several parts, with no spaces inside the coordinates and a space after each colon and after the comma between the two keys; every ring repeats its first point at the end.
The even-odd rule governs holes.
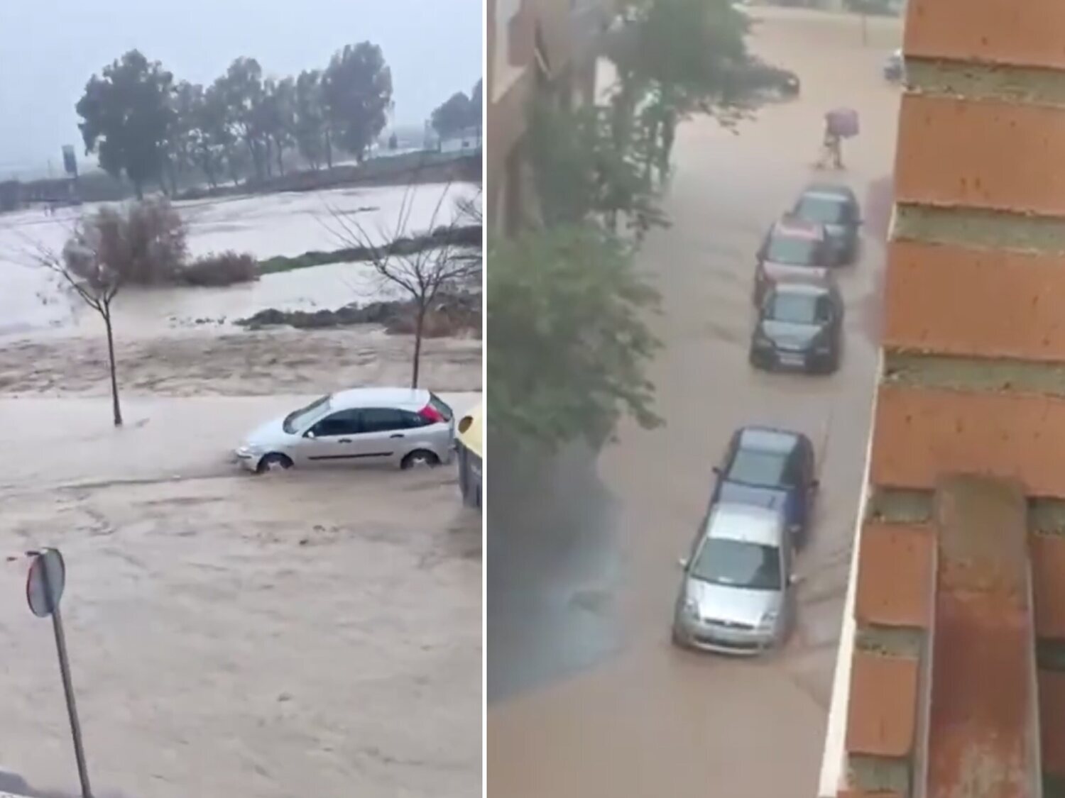
{"type": "Polygon", "coordinates": [[[590,101],[599,43],[612,0],[488,0],[488,182],[493,233],[513,234],[536,218],[522,142],[538,92],[590,101]]]}

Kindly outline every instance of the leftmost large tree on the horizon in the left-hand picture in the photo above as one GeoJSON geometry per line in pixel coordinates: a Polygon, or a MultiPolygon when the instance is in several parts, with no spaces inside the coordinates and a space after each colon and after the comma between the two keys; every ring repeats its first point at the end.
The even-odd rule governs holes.
{"type": "Polygon", "coordinates": [[[174,76],[158,61],[131,50],[94,74],[76,111],[86,152],[114,178],[125,174],[144,197],[145,185],[161,181],[173,130],[174,76]]]}

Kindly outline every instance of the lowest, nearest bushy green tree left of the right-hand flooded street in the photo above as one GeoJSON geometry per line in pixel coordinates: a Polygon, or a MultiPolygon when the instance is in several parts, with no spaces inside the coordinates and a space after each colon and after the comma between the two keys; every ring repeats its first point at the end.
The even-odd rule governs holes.
{"type": "Polygon", "coordinates": [[[661,423],[644,377],[659,347],[644,315],[658,296],[616,237],[594,226],[527,231],[493,243],[489,264],[494,428],[554,449],[601,447],[624,414],[661,423]]]}

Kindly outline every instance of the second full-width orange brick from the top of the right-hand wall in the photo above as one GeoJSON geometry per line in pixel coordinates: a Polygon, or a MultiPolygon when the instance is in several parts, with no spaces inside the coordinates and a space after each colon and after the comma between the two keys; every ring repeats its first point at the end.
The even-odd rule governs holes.
{"type": "Polygon", "coordinates": [[[907,94],[896,199],[1065,216],[1065,107],[907,94]]]}

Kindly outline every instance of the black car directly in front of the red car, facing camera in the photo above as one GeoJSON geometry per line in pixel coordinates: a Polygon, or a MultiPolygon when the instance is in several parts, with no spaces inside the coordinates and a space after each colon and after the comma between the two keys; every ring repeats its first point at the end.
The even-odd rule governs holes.
{"type": "Polygon", "coordinates": [[[835,285],[777,283],[758,309],[751,365],[831,373],[842,353],[843,300],[835,285]]]}

